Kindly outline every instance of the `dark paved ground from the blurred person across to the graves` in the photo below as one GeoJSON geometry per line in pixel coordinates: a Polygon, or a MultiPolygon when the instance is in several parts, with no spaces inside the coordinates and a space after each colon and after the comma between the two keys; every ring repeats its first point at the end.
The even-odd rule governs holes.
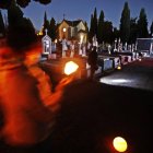
{"type": "Polygon", "coordinates": [[[152,152],[153,60],[132,62],[107,78],[127,80],[131,75],[142,83],[118,86],[82,80],[70,84],[55,130],[45,142],[48,150],[42,148],[35,153],[116,153],[111,141],[117,136],[128,141],[127,153],[152,152]]]}

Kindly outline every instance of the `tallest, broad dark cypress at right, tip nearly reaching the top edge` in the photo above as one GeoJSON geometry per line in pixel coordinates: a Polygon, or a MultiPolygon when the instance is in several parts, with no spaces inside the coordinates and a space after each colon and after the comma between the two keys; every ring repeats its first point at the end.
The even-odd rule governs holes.
{"type": "Polygon", "coordinates": [[[120,38],[125,44],[129,40],[130,36],[130,9],[128,2],[125,2],[125,7],[120,19],[120,38]]]}

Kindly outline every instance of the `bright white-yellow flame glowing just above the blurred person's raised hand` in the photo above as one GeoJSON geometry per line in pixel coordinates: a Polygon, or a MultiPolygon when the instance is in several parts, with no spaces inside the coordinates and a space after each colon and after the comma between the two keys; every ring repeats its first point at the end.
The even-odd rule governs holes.
{"type": "Polygon", "coordinates": [[[75,72],[78,70],[78,68],[79,68],[79,66],[75,62],[68,61],[64,66],[64,73],[67,75],[69,75],[71,73],[75,72]]]}

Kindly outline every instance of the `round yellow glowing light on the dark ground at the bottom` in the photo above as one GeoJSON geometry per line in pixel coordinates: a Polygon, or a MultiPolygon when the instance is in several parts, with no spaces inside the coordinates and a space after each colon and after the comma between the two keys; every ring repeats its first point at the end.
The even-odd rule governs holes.
{"type": "Polygon", "coordinates": [[[121,138],[121,137],[116,137],[113,141],[114,148],[116,149],[116,151],[118,152],[126,152],[128,144],[127,141],[121,138]]]}

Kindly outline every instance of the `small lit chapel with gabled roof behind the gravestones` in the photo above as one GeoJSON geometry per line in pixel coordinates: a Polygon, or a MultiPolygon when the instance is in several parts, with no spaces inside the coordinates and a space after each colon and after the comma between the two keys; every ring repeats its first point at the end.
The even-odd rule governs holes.
{"type": "Polygon", "coordinates": [[[81,43],[86,43],[87,30],[82,20],[62,20],[58,25],[58,35],[59,39],[66,38],[68,40],[74,39],[81,43]]]}

